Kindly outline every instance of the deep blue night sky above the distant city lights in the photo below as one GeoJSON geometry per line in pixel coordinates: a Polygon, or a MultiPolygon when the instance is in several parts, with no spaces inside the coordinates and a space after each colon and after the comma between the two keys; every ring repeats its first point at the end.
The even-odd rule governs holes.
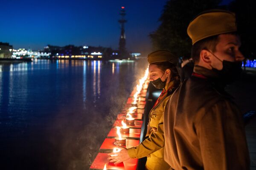
{"type": "MultiPolygon", "coordinates": [[[[125,6],[129,52],[150,52],[150,32],[157,29],[167,0],[4,0],[0,6],[0,42],[18,48],[47,44],[118,48],[119,10],[125,6]]],[[[224,3],[231,0],[224,0],[224,3]]]]}

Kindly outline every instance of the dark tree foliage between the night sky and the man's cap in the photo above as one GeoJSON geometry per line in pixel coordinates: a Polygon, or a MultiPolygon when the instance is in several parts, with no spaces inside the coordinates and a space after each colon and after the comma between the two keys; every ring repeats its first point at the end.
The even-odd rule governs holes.
{"type": "Polygon", "coordinates": [[[153,49],[166,49],[177,56],[189,55],[192,41],[187,35],[189,22],[200,12],[223,9],[221,0],[168,0],[159,19],[160,26],[151,33],[153,49]]]}

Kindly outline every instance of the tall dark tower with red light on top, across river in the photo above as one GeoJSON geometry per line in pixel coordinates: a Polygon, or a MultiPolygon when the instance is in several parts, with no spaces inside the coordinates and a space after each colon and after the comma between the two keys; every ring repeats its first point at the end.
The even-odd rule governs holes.
{"type": "Polygon", "coordinates": [[[125,23],[127,22],[127,20],[125,20],[126,13],[125,13],[124,6],[121,7],[120,15],[121,15],[121,19],[118,20],[121,26],[121,35],[119,39],[119,56],[121,58],[128,58],[128,53],[125,48],[125,23]]]}

